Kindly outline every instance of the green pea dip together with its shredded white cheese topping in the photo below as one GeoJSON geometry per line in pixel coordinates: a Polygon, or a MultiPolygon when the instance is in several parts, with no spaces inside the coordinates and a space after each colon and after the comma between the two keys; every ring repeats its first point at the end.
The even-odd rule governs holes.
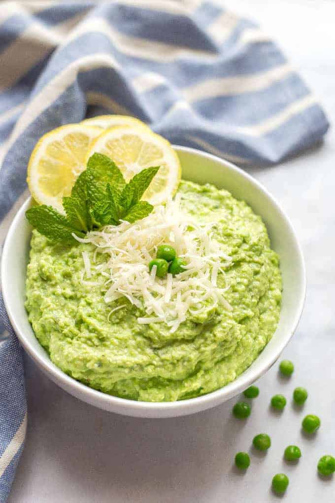
{"type": "Polygon", "coordinates": [[[51,360],[92,388],[145,401],[202,395],[233,381],[273,336],[281,275],[261,218],[211,185],[182,181],[176,198],[180,213],[171,203],[165,227],[164,207],[141,225],[123,223],[130,237],[120,249],[108,227],[77,245],[33,231],[29,320],[51,360]],[[161,222],[153,227],[160,234],[147,232],[144,249],[138,243],[150,218],[161,222]],[[183,249],[187,242],[194,249],[183,249]],[[157,244],[172,245],[188,272],[150,276],[142,266],[157,244]]]}

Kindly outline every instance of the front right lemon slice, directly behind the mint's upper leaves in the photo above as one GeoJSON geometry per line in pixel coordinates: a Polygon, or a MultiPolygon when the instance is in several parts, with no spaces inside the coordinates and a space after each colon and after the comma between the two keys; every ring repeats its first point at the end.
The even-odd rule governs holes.
{"type": "Polygon", "coordinates": [[[143,195],[143,199],[153,205],[164,203],[177,191],[181,179],[179,158],[170,143],[149,128],[116,126],[107,129],[93,142],[87,159],[94,152],[113,159],[126,182],[146,167],[160,166],[143,195]]]}

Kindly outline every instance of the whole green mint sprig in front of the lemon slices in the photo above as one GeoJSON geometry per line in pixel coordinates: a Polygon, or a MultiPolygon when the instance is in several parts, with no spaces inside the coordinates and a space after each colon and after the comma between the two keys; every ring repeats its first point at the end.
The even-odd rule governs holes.
{"type": "Polygon", "coordinates": [[[63,197],[66,215],[47,205],[33,206],[26,212],[29,223],[54,241],[76,242],[73,234],[85,233],[104,225],[130,223],[148,216],[153,206],[141,201],[158,167],[148,167],[127,184],[118,166],[106,155],[95,153],[86,170],[77,178],[71,195],[63,197]]]}

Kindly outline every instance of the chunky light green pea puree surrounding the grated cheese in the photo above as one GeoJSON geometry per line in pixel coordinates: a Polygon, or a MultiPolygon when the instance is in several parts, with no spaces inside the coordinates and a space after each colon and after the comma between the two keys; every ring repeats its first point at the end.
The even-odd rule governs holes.
{"type": "MultiPolygon", "coordinates": [[[[211,185],[182,181],[179,192],[184,211],[199,222],[215,222],[213,237],[232,257],[225,278],[219,274],[217,282],[230,286],[225,298],[233,310],[219,305],[202,318],[189,315],[175,333],[164,323],[139,324],[144,311],[124,299],[106,304],[99,284],[82,284],[82,251],[93,263],[92,244],[55,244],[33,231],[29,320],[51,360],[74,379],[134,400],[191,398],[233,381],[273,336],[281,275],[261,218],[211,185]]],[[[97,255],[97,262],[105,260],[97,255]]],[[[90,282],[101,283],[98,274],[90,282]]]]}

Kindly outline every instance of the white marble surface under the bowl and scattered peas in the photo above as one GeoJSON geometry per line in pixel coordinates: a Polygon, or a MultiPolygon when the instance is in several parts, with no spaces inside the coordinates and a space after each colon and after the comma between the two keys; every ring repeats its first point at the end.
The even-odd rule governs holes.
{"type": "MultiPolygon", "coordinates": [[[[232,10],[259,20],[273,33],[335,121],[335,4],[297,0],[227,0],[232,10]]],[[[321,480],[318,458],[335,455],[335,133],[317,149],[280,166],[252,174],[281,202],[301,239],[308,294],[299,328],[284,352],[296,372],[283,381],[273,368],[249,420],[232,418],[235,402],[196,415],[139,420],[81,403],[45,378],[26,360],[29,427],[10,503],[277,501],[270,481],[277,472],[290,478],[286,501],[330,503],[335,478],[321,480]],[[272,394],[288,397],[295,386],[308,388],[303,411],[290,400],[281,417],[269,410],[272,394]],[[315,438],[300,432],[307,412],[320,415],[315,438]],[[233,468],[235,453],[249,450],[254,435],[268,432],[273,446],[253,453],[244,475],[233,468]],[[301,447],[298,465],[282,460],[288,444],[301,447]]]]}

